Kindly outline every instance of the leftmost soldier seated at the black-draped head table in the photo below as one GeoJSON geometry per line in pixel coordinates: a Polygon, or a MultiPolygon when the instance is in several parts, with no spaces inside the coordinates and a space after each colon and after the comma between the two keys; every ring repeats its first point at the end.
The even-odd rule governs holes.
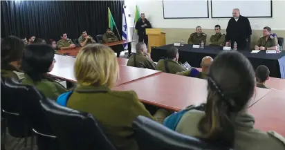
{"type": "Polygon", "coordinates": [[[203,41],[206,44],[207,35],[202,32],[201,26],[196,27],[196,32],[192,33],[188,39],[188,44],[199,45],[203,41]]]}

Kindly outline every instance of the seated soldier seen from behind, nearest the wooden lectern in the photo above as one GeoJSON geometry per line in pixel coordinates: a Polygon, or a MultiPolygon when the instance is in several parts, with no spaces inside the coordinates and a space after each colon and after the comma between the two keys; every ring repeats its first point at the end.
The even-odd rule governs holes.
{"type": "Polygon", "coordinates": [[[156,64],[150,58],[150,54],[147,53],[147,46],[143,42],[136,44],[136,54],[134,53],[129,57],[127,66],[156,69],[156,64]]]}

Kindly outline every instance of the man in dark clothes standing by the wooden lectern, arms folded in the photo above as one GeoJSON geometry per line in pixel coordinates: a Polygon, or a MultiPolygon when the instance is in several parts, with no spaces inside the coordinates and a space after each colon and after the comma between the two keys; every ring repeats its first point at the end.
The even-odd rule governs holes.
{"type": "Polygon", "coordinates": [[[145,18],[145,14],[140,14],[140,19],[136,22],[136,30],[138,30],[138,42],[145,42],[145,45],[148,43],[147,35],[145,34],[145,29],[151,28],[151,24],[145,18]]]}

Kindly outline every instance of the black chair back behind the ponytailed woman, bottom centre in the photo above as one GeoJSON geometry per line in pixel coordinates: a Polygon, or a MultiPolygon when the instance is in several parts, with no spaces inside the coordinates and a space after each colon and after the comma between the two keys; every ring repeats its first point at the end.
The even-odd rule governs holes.
{"type": "Polygon", "coordinates": [[[140,150],[226,150],[172,131],[144,116],[134,120],[133,129],[140,150]]]}

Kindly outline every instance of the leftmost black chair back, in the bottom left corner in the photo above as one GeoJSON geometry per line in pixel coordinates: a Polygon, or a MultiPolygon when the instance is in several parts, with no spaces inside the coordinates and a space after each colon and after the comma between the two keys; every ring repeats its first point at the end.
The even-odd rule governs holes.
{"type": "MultiPolygon", "coordinates": [[[[5,92],[5,104],[2,111],[6,112],[10,135],[16,138],[25,138],[33,135],[33,129],[37,131],[39,150],[47,149],[49,145],[53,146],[48,147],[52,149],[58,147],[57,142],[53,138],[50,140],[50,138],[43,136],[44,134],[52,135],[40,103],[45,99],[44,95],[37,91],[35,87],[19,84],[19,82],[12,78],[1,78],[2,90],[5,92]]],[[[2,95],[1,100],[3,100],[2,95]]]]}

